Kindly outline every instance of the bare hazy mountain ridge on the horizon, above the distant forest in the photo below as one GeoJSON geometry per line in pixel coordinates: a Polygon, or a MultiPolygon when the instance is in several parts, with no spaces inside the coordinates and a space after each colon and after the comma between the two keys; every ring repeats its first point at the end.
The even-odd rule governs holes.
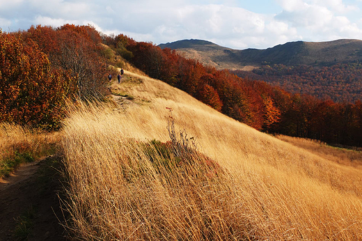
{"type": "Polygon", "coordinates": [[[230,49],[206,40],[178,40],[159,45],[218,69],[242,70],[262,64],[331,65],[362,61],[362,40],[287,42],[268,49],[230,49]]]}

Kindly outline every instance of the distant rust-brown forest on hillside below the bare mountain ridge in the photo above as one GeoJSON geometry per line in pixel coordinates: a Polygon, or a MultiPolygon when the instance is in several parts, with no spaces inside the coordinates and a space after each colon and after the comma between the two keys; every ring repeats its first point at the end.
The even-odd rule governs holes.
{"type": "Polygon", "coordinates": [[[362,100],[362,65],[359,62],[322,67],[263,65],[252,72],[233,72],[239,77],[259,79],[290,93],[313,95],[321,100],[339,103],[362,100]]]}

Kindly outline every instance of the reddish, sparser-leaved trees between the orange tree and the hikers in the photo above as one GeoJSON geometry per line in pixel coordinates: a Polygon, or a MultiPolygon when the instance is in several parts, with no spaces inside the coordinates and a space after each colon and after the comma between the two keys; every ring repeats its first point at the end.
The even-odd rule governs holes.
{"type": "Polygon", "coordinates": [[[97,46],[102,39],[93,27],[38,25],[23,34],[49,56],[53,68],[70,72],[80,98],[102,98],[107,93],[107,65],[97,46]]]}

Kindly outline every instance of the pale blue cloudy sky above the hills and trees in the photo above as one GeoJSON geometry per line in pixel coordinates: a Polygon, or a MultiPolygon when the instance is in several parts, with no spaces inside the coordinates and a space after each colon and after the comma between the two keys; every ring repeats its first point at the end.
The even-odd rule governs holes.
{"type": "Polygon", "coordinates": [[[0,0],[0,29],[94,26],[160,43],[209,40],[233,49],[362,40],[362,0],[0,0]]]}

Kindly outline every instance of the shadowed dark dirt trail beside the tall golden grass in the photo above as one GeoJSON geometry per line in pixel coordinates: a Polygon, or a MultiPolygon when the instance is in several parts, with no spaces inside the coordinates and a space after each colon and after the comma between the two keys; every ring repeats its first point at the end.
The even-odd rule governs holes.
{"type": "Polygon", "coordinates": [[[0,180],[0,241],[66,240],[64,228],[58,220],[63,221],[56,192],[60,189],[60,182],[58,175],[54,174],[56,171],[49,173],[49,163],[54,158],[59,157],[24,164],[8,178],[0,180]],[[30,222],[21,226],[24,220],[30,222]],[[29,228],[25,232],[29,234],[15,235],[15,229],[19,227],[22,230],[29,228]]]}

